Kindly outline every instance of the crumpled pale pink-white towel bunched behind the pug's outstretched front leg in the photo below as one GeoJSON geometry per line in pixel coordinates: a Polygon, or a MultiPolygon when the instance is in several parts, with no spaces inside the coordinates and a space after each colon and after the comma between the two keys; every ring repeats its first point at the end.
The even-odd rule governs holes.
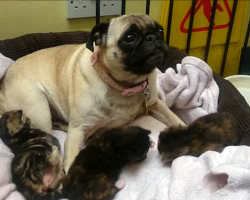
{"type": "Polygon", "coordinates": [[[158,71],[158,96],[186,124],[209,113],[217,112],[219,87],[212,69],[203,60],[187,56],[177,64],[177,73],[168,68],[158,71]]]}

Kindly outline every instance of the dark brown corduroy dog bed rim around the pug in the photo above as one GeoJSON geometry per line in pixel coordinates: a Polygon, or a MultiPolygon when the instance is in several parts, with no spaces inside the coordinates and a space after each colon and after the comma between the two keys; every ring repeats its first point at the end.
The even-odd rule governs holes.
{"type": "MultiPolygon", "coordinates": [[[[79,44],[87,41],[89,32],[35,33],[0,41],[0,53],[13,60],[34,51],[63,44],[79,44]]],[[[170,47],[165,61],[158,68],[175,68],[186,56],[177,48],[170,47]]],[[[218,112],[230,112],[237,118],[241,134],[240,144],[250,145],[250,107],[244,97],[227,80],[214,73],[214,80],[219,86],[218,112]]]]}

